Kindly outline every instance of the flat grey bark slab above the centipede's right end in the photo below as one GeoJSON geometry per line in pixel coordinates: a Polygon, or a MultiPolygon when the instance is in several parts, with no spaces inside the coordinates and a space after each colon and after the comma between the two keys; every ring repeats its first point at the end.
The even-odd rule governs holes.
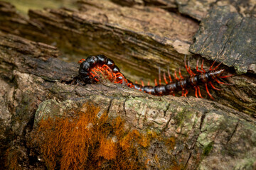
{"type": "Polygon", "coordinates": [[[228,6],[213,8],[201,23],[190,51],[226,59],[238,74],[256,72],[256,18],[241,17],[228,6]],[[227,58],[227,56],[229,56],[227,58]]]}

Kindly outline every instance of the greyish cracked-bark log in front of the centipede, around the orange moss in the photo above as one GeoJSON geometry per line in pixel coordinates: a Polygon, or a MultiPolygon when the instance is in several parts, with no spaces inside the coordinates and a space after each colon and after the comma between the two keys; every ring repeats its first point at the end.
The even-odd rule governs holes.
{"type": "Polygon", "coordinates": [[[31,133],[42,118],[90,102],[108,118],[122,118],[129,130],[157,134],[149,145],[137,146],[138,162],[146,169],[255,169],[256,121],[245,113],[215,101],[151,96],[121,84],[70,84],[78,64],[56,58],[56,47],[16,35],[0,32],[0,52],[1,153],[8,166],[45,169],[42,153],[28,145],[31,133]]]}

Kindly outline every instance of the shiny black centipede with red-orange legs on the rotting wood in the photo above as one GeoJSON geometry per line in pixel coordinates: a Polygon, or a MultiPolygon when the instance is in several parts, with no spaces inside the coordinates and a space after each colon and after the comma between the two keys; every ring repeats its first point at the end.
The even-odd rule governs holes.
{"type": "Polygon", "coordinates": [[[203,85],[206,88],[208,96],[210,96],[210,98],[214,100],[213,96],[210,94],[208,87],[210,86],[210,88],[216,91],[220,91],[220,89],[216,88],[213,85],[213,82],[217,82],[218,84],[231,85],[220,81],[219,78],[225,79],[227,77],[232,77],[233,74],[223,76],[225,69],[218,69],[222,62],[214,67],[214,64],[216,62],[215,60],[209,69],[203,68],[203,62],[204,60],[202,60],[201,68],[199,69],[199,60],[197,60],[196,72],[193,72],[189,62],[186,62],[185,56],[184,63],[186,71],[189,74],[188,77],[183,77],[181,75],[181,69],[179,69],[178,75],[176,71],[174,72],[175,79],[173,80],[168,69],[167,76],[166,72],[164,72],[163,74],[165,84],[161,84],[161,71],[159,69],[159,82],[157,82],[155,79],[155,86],[150,86],[149,84],[145,86],[143,81],[142,84],[138,84],[137,82],[133,83],[132,81],[124,77],[124,74],[122,74],[117,65],[114,64],[114,61],[106,57],[105,55],[90,55],[86,59],[81,59],[78,62],[80,63],[80,68],[78,72],[78,83],[82,84],[83,86],[85,86],[86,84],[93,84],[97,81],[100,81],[99,74],[101,74],[102,77],[104,77],[105,79],[109,79],[115,84],[124,84],[132,89],[144,91],[146,94],[151,94],[155,96],[175,96],[178,91],[181,91],[181,96],[186,97],[188,94],[188,89],[194,89],[196,98],[203,98],[200,90],[200,86],[203,85]]]}

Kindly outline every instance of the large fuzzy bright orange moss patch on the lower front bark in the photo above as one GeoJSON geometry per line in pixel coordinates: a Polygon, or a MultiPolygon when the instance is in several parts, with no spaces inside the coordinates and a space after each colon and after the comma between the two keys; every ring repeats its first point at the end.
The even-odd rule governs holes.
{"type": "Polygon", "coordinates": [[[48,169],[144,169],[137,144],[149,145],[139,131],[124,130],[124,122],[86,104],[72,116],[41,120],[33,138],[48,169]],[[86,111],[84,113],[83,111],[86,111]]]}

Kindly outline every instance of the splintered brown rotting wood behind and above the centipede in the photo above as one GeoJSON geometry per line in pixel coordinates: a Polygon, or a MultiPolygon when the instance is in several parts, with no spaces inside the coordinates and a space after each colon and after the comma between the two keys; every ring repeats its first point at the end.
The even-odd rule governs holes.
{"type": "MultiPolygon", "coordinates": [[[[112,58],[124,75],[132,81],[143,79],[152,82],[157,77],[159,66],[162,71],[166,71],[169,66],[172,73],[182,66],[181,73],[187,75],[183,67],[184,55],[191,55],[192,68],[196,68],[197,58],[203,59],[198,54],[208,59],[205,64],[206,67],[210,67],[215,60],[216,52],[221,52],[221,49],[213,51],[210,48],[210,45],[216,45],[218,42],[206,47],[203,41],[209,36],[208,33],[211,33],[206,31],[201,34],[201,30],[206,29],[203,23],[207,21],[207,18],[201,24],[196,34],[196,42],[193,43],[198,23],[191,18],[170,13],[159,7],[134,5],[129,8],[100,0],[79,1],[79,6],[78,11],[67,8],[31,10],[28,13],[29,19],[27,19],[18,15],[14,6],[1,3],[0,21],[4,24],[0,26],[0,29],[30,40],[56,44],[63,54],[70,56],[71,53],[76,57],[72,60],[73,62],[80,60],[78,59],[80,56],[105,54],[112,58]],[[191,52],[196,55],[192,55],[191,52]]],[[[215,12],[211,13],[214,16],[215,12]]],[[[233,21],[248,20],[228,10],[225,11],[225,15],[233,17],[233,21]]],[[[213,16],[208,17],[209,22],[214,20],[213,16]]],[[[216,18],[220,17],[219,13],[216,18]]],[[[249,28],[250,22],[244,23],[244,27],[249,28]]],[[[220,28],[223,26],[221,23],[216,24],[220,28]]],[[[237,25],[231,25],[228,30],[235,30],[233,28],[235,26],[237,25]]],[[[233,38],[233,43],[238,41],[240,34],[253,36],[252,27],[247,32],[242,28],[240,30],[241,33],[237,33],[237,36],[233,38]]],[[[218,31],[215,30],[213,33],[218,34],[218,31]]],[[[230,32],[227,31],[221,45],[225,45],[225,40],[229,35],[230,32]]],[[[217,36],[213,35],[213,38],[215,37],[217,36]]],[[[255,39],[252,38],[250,42],[252,48],[248,48],[245,43],[240,43],[239,49],[250,54],[250,50],[254,49],[254,44],[255,39]]],[[[232,53],[233,46],[225,45],[225,47],[225,51],[232,53]]],[[[253,59],[254,56],[248,55],[247,57],[253,59]]],[[[243,74],[228,79],[228,83],[234,84],[233,86],[217,86],[222,91],[218,93],[211,91],[215,101],[255,116],[255,72],[245,74],[247,69],[253,71],[255,67],[253,60],[244,64],[241,61],[245,59],[236,60],[232,56],[221,55],[218,61],[224,58],[227,58],[223,62],[225,74],[234,74],[235,71],[243,74]],[[233,66],[242,68],[242,72],[240,72],[241,69],[234,71],[233,66]]],[[[201,90],[203,96],[206,96],[205,88],[201,90]]],[[[194,91],[190,91],[190,95],[194,95],[193,93],[194,91]]]]}

